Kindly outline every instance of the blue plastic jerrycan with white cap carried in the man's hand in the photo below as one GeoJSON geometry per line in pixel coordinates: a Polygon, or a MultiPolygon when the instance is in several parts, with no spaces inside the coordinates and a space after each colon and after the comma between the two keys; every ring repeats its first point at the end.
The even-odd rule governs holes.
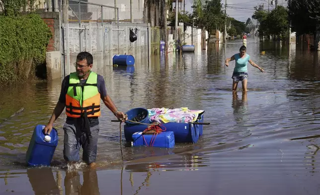
{"type": "Polygon", "coordinates": [[[52,128],[49,135],[51,140],[45,141],[44,127],[45,125],[37,125],[33,130],[26,154],[26,163],[29,167],[50,166],[55,153],[59,140],[58,132],[55,128],[52,128]]]}

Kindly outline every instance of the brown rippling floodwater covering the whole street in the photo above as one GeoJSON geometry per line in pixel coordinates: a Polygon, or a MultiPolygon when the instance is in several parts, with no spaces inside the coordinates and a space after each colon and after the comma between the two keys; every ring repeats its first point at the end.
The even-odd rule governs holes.
{"type": "Polygon", "coordinates": [[[119,110],[188,107],[205,110],[211,123],[196,144],[174,149],[128,147],[122,132],[122,160],[119,123],[103,106],[96,170],[63,168],[65,111],[54,124],[60,140],[52,167],[25,166],[33,129],[47,124],[60,80],[2,90],[0,195],[319,195],[320,56],[300,44],[249,38],[247,54],[264,73],[248,63],[248,92],[240,83],[233,94],[235,61],[224,61],[241,45],[199,48],[183,59],[170,53],[149,64],[137,59],[134,70],[94,61],[119,110]]]}

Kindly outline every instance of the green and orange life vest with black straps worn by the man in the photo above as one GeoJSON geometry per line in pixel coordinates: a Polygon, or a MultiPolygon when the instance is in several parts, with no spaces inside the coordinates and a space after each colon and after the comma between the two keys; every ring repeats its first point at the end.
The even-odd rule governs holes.
{"type": "Polygon", "coordinates": [[[70,74],[66,94],[67,116],[78,118],[100,116],[100,93],[97,88],[97,74],[90,72],[85,83],[81,83],[76,72],[70,74]]]}

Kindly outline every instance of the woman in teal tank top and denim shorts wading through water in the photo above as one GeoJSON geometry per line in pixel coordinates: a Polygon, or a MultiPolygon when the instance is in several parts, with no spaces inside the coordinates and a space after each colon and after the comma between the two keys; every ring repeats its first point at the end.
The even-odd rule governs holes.
{"type": "Polygon", "coordinates": [[[252,66],[259,69],[263,73],[263,69],[256,65],[252,60],[250,60],[250,56],[246,54],[246,47],[242,45],[240,47],[240,53],[233,55],[231,58],[226,59],[226,66],[229,66],[229,62],[236,60],[236,66],[234,68],[234,72],[232,74],[232,79],[234,80],[232,85],[232,91],[237,91],[238,83],[241,81],[242,83],[242,91],[247,91],[247,80],[248,80],[248,69],[247,63],[249,62],[252,66]]]}

